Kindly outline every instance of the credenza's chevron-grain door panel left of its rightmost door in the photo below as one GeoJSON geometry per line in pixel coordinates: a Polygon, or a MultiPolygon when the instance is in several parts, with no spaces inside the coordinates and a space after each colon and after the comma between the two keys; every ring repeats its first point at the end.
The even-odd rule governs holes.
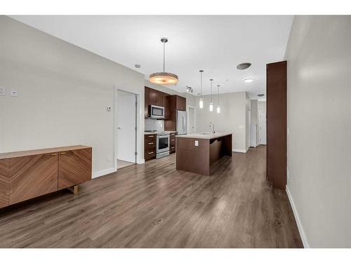
{"type": "Polygon", "coordinates": [[[10,205],[57,190],[57,153],[11,158],[10,205]]]}

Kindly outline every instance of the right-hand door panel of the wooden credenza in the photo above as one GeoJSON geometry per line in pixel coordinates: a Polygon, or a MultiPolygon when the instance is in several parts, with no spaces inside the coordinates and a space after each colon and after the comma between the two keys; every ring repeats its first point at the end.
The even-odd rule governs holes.
{"type": "Polygon", "coordinates": [[[91,148],[60,151],[58,154],[58,189],[91,180],[91,148]]]}

